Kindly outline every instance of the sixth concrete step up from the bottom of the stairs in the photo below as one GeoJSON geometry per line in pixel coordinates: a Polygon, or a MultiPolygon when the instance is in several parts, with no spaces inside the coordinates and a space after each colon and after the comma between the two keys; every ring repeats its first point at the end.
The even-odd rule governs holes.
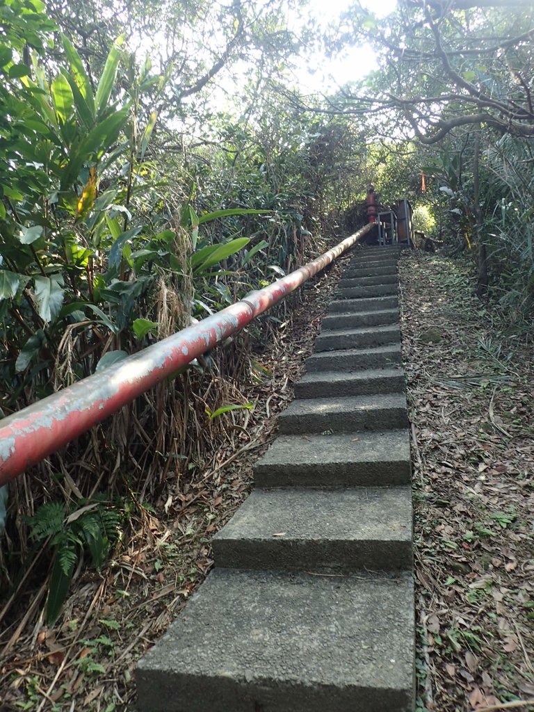
{"type": "Polygon", "coordinates": [[[360,368],[386,368],[402,363],[397,342],[365,349],[342,349],[315,353],[306,359],[306,371],[352,371],[360,368]]]}

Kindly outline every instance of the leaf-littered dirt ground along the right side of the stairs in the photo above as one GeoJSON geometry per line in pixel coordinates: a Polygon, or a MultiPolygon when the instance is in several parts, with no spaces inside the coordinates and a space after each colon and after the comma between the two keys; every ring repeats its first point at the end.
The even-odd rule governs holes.
{"type": "Polygon", "coordinates": [[[417,711],[524,712],[534,701],[532,332],[474,296],[467,258],[405,253],[399,271],[417,711]]]}

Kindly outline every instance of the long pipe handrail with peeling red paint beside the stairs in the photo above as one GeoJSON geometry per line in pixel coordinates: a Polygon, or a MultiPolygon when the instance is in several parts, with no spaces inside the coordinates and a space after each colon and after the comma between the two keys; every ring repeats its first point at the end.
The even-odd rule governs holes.
{"type": "Polygon", "coordinates": [[[150,390],[323,270],[375,226],[368,224],[268,287],[0,421],[0,486],[150,390]]]}

